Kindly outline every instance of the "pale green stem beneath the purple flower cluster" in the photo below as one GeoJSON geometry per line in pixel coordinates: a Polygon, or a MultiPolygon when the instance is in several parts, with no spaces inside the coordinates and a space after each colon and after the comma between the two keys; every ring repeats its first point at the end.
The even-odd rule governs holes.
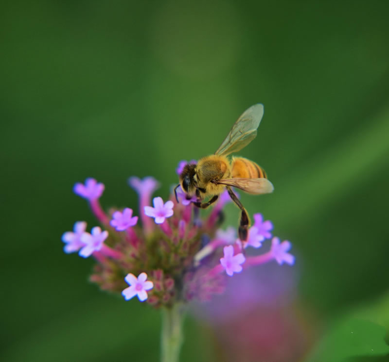
{"type": "Polygon", "coordinates": [[[161,362],[179,361],[183,316],[184,309],[180,303],[162,309],[161,362]]]}

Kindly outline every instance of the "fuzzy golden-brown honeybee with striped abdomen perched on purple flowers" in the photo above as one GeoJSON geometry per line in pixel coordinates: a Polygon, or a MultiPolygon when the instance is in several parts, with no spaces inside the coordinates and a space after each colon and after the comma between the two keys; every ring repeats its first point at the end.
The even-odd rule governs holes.
{"type": "Polygon", "coordinates": [[[176,190],[181,186],[188,199],[197,197],[197,201],[192,202],[201,209],[212,205],[227,189],[231,199],[241,210],[238,234],[242,242],[248,238],[250,219],[231,186],[253,195],[271,193],[274,187],[267,180],[262,167],[255,162],[243,157],[232,157],[230,160],[227,156],[246,147],[256,137],[263,115],[262,104],[254,104],[248,108],[234,123],[230,133],[213,155],[201,158],[197,164],[184,166],[179,175],[179,184],[175,188],[177,202],[176,190]],[[210,199],[202,202],[207,198],[210,199]]]}

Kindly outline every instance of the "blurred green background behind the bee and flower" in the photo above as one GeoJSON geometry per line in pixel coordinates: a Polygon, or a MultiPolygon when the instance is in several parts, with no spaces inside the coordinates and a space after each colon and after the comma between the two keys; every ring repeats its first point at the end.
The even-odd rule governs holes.
{"type": "Polygon", "coordinates": [[[234,341],[250,361],[388,360],[386,1],[1,8],[1,360],[158,361],[159,312],[100,292],[92,260],[62,251],[75,221],[95,224],[72,186],[94,177],[105,207],[136,208],[127,178],[152,175],[166,198],[178,161],[213,153],[257,102],[241,154],[275,192],[242,200],[292,241],[296,265],[277,276],[293,287],[258,296],[256,319],[191,314],[182,361],[227,361],[234,341]]]}

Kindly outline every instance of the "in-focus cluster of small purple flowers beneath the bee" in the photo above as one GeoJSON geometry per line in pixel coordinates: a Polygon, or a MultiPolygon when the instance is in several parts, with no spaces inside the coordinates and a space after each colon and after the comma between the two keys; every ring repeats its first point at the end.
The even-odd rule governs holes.
{"type": "Polygon", "coordinates": [[[245,243],[237,239],[235,228],[220,229],[224,205],[230,200],[227,192],[202,217],[192,204],[194,200],[187,199],[182,190],[178,190],[178,203],[173,193],[164,202],[161,197],[151,200],[159,187],[154,178],[132,177],[129,184],[139,194],[141,225],[130,208],[111,209],[109,213],[101,208],[102,183],[87,179],[73,189],[88,200],[104,230],[96,226],[88,233],[86,222],[76,222],[73,231],[62,236],[64,251],[92,256],[96,264],[90,280],[103,290],[121,293],[125,300],[138,296],[155,307],[171,306],[223,293],[228,278],[247,267],[272,260],[294,263],[294,256],[288,253],[290,242],[272,238],[273,225],[264,221],[262,214],[253,215],[254,224],[245,243]],[[247,256],[246,248],[260,248],[271,238],[269,251],[247,256]]]}

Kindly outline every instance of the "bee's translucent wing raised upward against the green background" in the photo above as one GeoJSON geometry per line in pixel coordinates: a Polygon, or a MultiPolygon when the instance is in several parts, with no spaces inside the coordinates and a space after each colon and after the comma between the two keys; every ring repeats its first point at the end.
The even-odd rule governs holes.
{"type": "Polygon", "coordinates": [[[215,152],[215,155],[229,155],[246,147],[257,135],[257,128],[264,115],[264,106],[254,104],[234,123],[230,133],[215,152]]]}

